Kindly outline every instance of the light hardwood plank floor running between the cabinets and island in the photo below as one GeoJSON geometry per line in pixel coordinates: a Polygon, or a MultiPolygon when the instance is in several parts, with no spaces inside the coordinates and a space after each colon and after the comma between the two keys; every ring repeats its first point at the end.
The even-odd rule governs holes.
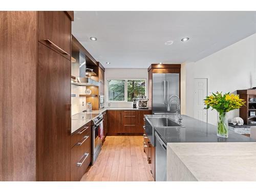
{"type": "Polygon", "coordinates": [[[107,136],[81,181],[154,181],[142,143],[143,136],[107,136]]]}

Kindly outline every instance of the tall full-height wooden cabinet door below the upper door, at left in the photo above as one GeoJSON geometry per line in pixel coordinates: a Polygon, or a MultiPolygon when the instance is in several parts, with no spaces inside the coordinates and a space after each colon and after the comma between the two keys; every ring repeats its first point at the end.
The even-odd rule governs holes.
{"type": "Polygon", "coordinates": [[[39,181],[70,181],[70,72],[70,60],[38,42],[39,181]]]}

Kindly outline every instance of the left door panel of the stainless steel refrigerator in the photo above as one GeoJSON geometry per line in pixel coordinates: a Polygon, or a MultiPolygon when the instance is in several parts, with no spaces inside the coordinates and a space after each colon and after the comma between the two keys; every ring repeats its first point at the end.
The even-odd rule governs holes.
{"type": "Polygon", "coordinates": [[[166,105],[166,78],[164,73],[153,73],[153,97],[152,111],[163,112],[167,111],[166,105]]]}

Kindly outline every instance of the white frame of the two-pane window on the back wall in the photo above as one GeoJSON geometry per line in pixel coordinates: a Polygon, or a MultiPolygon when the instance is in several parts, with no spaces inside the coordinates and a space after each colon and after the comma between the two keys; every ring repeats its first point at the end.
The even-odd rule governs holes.
{"type": "Polygon", "coordinates": [[[147,96],[147,79],[146,78],[106,78],[106,102],[117,102],[117,103],[132,103],[128,101],[128,80],[144,80],[145,81],[145,96],[147,96]],[[124,101],[110,101],[109,100],[109,80],[124,80],[124,101]]]}

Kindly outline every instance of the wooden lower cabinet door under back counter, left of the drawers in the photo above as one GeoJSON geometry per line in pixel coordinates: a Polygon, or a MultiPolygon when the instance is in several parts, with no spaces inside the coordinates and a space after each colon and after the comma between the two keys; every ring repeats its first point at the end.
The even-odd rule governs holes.
{"type": "Polygon", "coordinates": [[[108,134],[116,135],[121,133],[122,126],[122,111],[112,111],[108,112],[108,134]]]}

